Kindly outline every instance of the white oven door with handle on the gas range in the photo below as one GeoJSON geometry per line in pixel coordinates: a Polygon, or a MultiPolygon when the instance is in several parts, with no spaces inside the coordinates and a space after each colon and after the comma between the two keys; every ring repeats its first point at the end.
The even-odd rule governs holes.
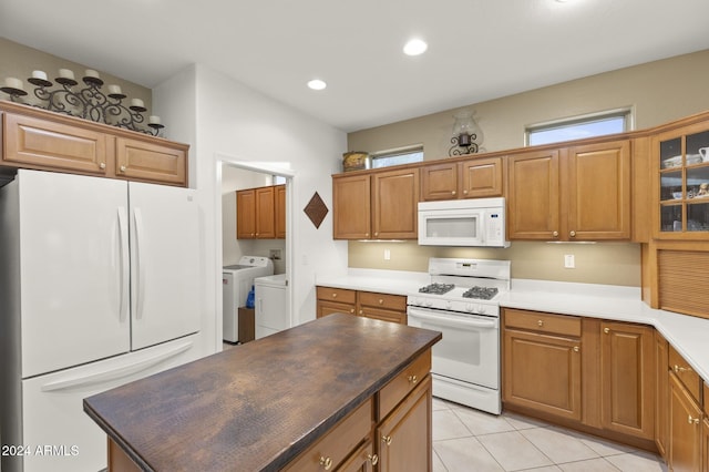
{"type": "Polygon", "coordinates": [[[441,331],[433,373],[491,389],[500,387],[500,318],[409,307],[409,326],[441,331]]]}

